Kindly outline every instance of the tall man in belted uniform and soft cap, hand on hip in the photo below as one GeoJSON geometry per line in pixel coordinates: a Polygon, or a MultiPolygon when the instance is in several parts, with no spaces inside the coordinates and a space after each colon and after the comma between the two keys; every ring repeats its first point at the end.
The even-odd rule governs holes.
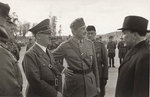
{"type": "Polygon", "coordinates": [[[99,75],[95,48],[85,39],[86,26],[83,18],[75,19],[70,25],[73,37],[53,51],[55,58],[65,58],[64,97],[95,97],[99,91],[99,75]],[[70,71],[69,71],[70,70],[70,71]]]}

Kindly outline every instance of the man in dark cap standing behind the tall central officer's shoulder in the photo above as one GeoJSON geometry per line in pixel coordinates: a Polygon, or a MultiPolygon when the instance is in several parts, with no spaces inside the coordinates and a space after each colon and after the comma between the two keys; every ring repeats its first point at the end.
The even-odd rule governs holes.
{"type": "Polygon", "coordinates": [[[99,42],[95,39],[96,29],[93,25],[90,25],[86,28],[87,30],[87,38],[93,41],[96,51],[96,58],[100,76],[100,96],[104,97],[105,95],[105,85],[108,80],[108,58],[107,58],[107,50],[105,45],[102,42],[99,42]]]}

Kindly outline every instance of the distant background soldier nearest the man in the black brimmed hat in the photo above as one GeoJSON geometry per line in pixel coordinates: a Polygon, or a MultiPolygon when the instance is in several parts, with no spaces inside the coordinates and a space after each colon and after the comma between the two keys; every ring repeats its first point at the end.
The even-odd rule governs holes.
{"type": "Polygon", "coordinates": [[[125,54],[127,53],[128,48],[125,44],[125,41],[123,41],[123,38],[121,37],[120,39],[121,41],[118,43],[118,50],[119,50],[118,56],[119,56],[120,64],[121,64],[124,59],[125,54]]]}

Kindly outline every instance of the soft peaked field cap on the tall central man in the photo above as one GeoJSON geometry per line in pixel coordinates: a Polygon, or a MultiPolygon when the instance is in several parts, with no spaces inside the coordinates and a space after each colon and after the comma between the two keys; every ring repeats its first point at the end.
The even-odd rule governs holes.
{"type": "Polygon", "coordinates": [[[83,18],[77,18],[70,24],[71,29],[72,28],[77,29],[77,28],[80,28],[83,26],[85,26],[85,22],[84,22],[83,18]]]}

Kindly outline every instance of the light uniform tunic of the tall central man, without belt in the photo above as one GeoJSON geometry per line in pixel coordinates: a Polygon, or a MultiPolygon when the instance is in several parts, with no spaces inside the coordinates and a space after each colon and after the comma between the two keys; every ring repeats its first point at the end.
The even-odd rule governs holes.
{"type": "Polygon", "coordinates": [[[60,44],[58,48],[54,50],[53,55],[55,58],[65,58],[68,67],[75,70],[89,69],[89,67],[72,49],[69,42],[73,44],[73,47],[77,49],[80,54],[84,54],[85,60],[90,64],[90,67],[93,67],[93,72],[84,76],[82,74],[74,74],[73,76],[65,77],[63,95],[64,97],[84,97],[84,86],[86,86],[86,97],[94,97],[97,95],[96,88],[99,87],[94,45],[90,40],[84,39],[82,47],[79,47],[77,39],[73,37],[60,44]],[[85,78],[85,81],[83,77],[85,78]]]}

